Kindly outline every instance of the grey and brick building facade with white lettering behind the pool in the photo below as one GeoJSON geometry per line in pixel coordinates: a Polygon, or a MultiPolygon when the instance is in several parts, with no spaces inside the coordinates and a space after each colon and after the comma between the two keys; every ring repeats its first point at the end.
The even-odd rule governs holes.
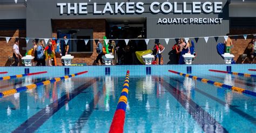
{"type": "MultiPolygon", "coordinates": [[[[136,41],[136,50],[152,49],[154,39],[160,38],[165,46],[164,63],[173,64],[172,47],[178,38],[190,38],[195,43],[197,58],[195,64],[218,64],[223,59],[218,55],[216,45],[227,33],[256,33],[256,2],[242,0],[218,1],[68,1],[37,0],[0,2],[0,36],[23,38],[62,38],[64,34],[72,39],[150,39],[136,41]],[[118,30],[119,32],[115,32],[118,30]],[[164,39],[170,39],[167,44],[164,39]]],[[[251,41],[253,35],[232,38],[235,60],[251,41]]],[[[32,39],[26,45],[21,40],[22,54],[32,48],[32,39]]],[[[6,43],[0,40],[0,65],[8,65],[12,56],[14,39],[6,43]]],[[[92,65],[97,57],[95,41],[70,41],[70,53],[74,63],[92,65]]],[[[58,64],[60,65],[58,56],[58,64]]]]}

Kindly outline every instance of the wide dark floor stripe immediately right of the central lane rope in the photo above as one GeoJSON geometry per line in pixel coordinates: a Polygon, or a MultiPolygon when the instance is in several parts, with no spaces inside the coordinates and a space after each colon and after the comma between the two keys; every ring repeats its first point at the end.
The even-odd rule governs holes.
{"type": "Polygon", "coordinates": [[[196,102],[191,98],[188,98],[187,95],[183,94],[183,92],[167,83],[165,80],[161,81],[161,85],[184,107],[184,109],[187,110],[204,132],[228,132],[218,121],[196,104],[196,102]],[[189,108],[186,107],[187,102],[189,104],[189,108]]]}

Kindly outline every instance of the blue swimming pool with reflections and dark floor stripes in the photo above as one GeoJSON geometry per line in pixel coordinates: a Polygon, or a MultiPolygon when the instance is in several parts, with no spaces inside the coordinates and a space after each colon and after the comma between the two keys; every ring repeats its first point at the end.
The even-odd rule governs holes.
{"type": "MultiPolygon", "coordinates": [[[[234,72],[256,74],[247,71],[255,65],[231,66],[234,72]]],[[[190,75],[256,92],[256,78],[208,71],[226,70],[226,65],[190,67],[190,75]]],[[[70,67],[69,73],[65,67],[38,68],[30,72],[48,73],[0,81],[0,92],[88,72],[1,98],[1,132],[109,132],[126,70],[130,84],[124,132],[256,132],[253,95],[168,72],[186,73],[186,65],[70,67]]],[[[9,72],[0,77],[24,71],[17,69],[0,68],[9,72]]]]}

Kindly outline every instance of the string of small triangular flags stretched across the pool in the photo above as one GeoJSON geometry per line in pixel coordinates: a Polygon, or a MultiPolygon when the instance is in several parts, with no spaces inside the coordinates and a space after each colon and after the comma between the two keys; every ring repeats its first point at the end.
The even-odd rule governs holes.
{"type": "MultiPolygon", "coordinates": [[[[237,36],[243,36],[244,39],[246,40],[248,35],[253,35],[253,36],[255,36],[254,38],[256,38],[256,34],[243,34],[243,35],[228,35],[228,36],[225,35],[225,36],[190,37],[190,38],[184,38],[184,40],[185,40],[185,42],[188,42],[188,40],[190,40],[190,39],[195,39],[196,42],[198,42],[198,39],[199,39],[199,38],[204,38],[205,42],[207,43],[209,38],[214,38],[215,41],[217,42],[218,39],[219,39],[219,37],[223,37],[223,38],[225,39],[225,41],[227,41],[228,37],[231,37],[231,36],[234,36],[234,37],[236,37],[236,38],[237,38],[237,36]]],[[[5,38],[6,43],[9,43],[9,41],[10,41],[11,38],[17,39],[16,37],[4,37],[4,36],[0,36],[0,38],[5,38]]],[[[34,39],[41,39],[41,40],[44,40],[46,44],[47,44],[47,43],[49,42],[49,40],[50,40],[49,38],[18,38],[18,39],[25,39],[25,40],[26,40],[26,44],[28,44],[28,43],[29,43],[29,40],[31,40],[31,39],[32,39],[32,40],[34,40],[34,39]]],[[[179,39],[179,38],[156,38],[156,39],[165,40],[166,44],[168,45],[170,39],[175,39],[175,40],[176,40],[176,39],[179,39]]],[[[84,40],[85,45],[87,45],[87,43],[88,43],[90,40],[94,40],[94,41],[96,41],[96,40],[104,40],[105,43],[109,43],[109,41],[110,41],[110,39],[57,39],[57,40],[58,40],[58,41],[59,41],[59,40],[64,40],[65,43],[68,43],[70,40],[84,40]]],[[[155,40],[155,39],[111,39],[111,40],[115,40],[115,41],[124,40],[125,43],[126,43],[126,45],[128,45],[128,43],[129,43],[130,40],[135,40],[135,42],[136,42],[137,44],[138,44],[139,40],[144,40],[145,43],[146,43],[146,45],[148,45],[150,40],[155,40]]]]}

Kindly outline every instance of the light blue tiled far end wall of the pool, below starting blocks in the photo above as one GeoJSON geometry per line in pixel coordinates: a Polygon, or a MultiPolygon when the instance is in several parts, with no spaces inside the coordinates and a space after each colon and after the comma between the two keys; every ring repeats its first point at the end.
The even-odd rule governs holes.
{"type": "MultiPolygon", "coordinates": [[[[97,77],[102,75],[115,75],[123,76],[126,70],[130,70],[131,75],[163,75],[169,73],[168,70],[179,71],[187,73],[187,67],[191,67],[192,72],[204,72],[209,69],[227,71],[227,68],[231,66],[233,72],[247,72],[254,73],[253,71],[248,71],[248,69],[256,69],[256,64],[204,64],[204,65],[111,65],[111,66],[84,66],[84,67],[0,67],[0,71],[7,71],[6,74],[1,74],[3,76],[12,76],[24,74],[25,69],[29,69],[29,72],[39,72],[48,71],[48,73],[43,73],[37,75],[37,77],[47,77],[56,75],[63,76],[72,73],[77,73],[81,71],[89,71],[86,73],[85,77],[97,77]]],[[[27,70],[28,71],[28,70],[27,70]]]]}

